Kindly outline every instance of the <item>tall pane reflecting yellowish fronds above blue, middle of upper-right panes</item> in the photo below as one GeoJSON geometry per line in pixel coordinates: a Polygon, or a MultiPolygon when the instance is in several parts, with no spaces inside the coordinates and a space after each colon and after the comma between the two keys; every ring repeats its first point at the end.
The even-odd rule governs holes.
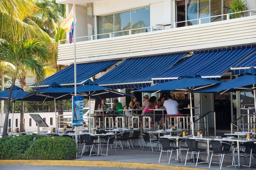
{"type": "MultiPolygon", "coordinates": [[[[210,0],[199,0],[199,18],[210,16],[210,0]]],[[[202,19],[201,23],[209,23],[210,18],[202,19]]]]}

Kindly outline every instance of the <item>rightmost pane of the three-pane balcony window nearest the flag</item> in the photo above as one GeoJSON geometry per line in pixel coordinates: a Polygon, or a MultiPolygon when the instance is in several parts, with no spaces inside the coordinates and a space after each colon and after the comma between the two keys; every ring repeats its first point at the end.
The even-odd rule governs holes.
{"type": "MultiPolygon", "coordinates": [[[[131,11],[131,28],[143,28],[150,26],[150,8],[142,8],[131,11]]],[[[138,29],[132,31],[132,34],[145,32],[145,29],[138,29]]]]}

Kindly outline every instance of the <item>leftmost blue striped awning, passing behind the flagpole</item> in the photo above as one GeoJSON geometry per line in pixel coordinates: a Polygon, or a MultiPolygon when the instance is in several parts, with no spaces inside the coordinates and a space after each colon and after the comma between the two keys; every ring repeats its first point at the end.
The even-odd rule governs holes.
{"type": "MultiPolygon", "coordinates": [[[[112,60],[112,61],[102,61],[102,62],[88,62],[76,65],[76,82],[77,84],[81,84],[85,80],[89,79],[90,77],[98,74],[101,71],[106,70],[111,65],[115,64],[119,60],[112,60]]],[[[59,71],[56,74],[44,79],[44,81],[37,87],[31,85],[31,88],[36,90],[42,89],[47,87],[48,85],[52,84],[52,82],[56,82],[60,85],[65,87],[73,87],[75,80],[74,80],[74,65],[70,65],[67,68],[59,71]]]]}

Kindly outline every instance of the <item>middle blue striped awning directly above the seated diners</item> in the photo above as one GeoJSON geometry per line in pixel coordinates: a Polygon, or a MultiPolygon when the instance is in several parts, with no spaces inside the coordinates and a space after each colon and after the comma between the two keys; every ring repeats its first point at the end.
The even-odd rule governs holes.
{"type": "Polygon", "coordinates": [[[126,59],[113,70],[96,80],[98,85],[112,89],[148,87],[152,77],[171,68],[186,53],[126,59]]]}

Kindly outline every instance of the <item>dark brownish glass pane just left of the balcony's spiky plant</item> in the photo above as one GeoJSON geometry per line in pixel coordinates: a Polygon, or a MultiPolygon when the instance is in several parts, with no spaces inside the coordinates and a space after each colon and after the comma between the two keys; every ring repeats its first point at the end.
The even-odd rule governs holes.
{"type": "MultiPolygon", "coordinates": [[[[211,16],[221,15],[222,14],[222,0],[210,0],[211,2],[211,16]]],[[[211,22],[221,21],[220,17],[212,17],[211,22]]]]}

